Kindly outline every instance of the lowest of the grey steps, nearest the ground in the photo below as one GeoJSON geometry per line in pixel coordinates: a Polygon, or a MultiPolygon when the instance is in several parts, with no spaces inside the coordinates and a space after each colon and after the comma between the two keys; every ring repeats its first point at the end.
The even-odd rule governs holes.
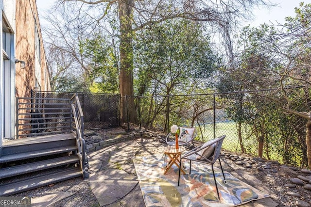
{"type": "Polygon", "coordinates": [[[73,168],[57,173],[49,173],[46,175],[40,175],[37,177],[26,178],[14,183],[0,185],[0,196],[13,195],[23,191],[29,191],[31,189],[47,186],[52,183],[61,182],[74,177],[82,177],[80,168],[73,168]]]}

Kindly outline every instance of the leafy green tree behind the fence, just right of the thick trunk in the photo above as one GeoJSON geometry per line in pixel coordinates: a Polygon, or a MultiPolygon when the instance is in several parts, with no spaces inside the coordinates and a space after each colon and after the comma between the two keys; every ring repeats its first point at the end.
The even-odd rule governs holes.
{"type": "Polygon", "coordinates": [[[191,125],[193,120],[185,121],[194,117],[189,109],[204,108],[200,106],[205,101],[174,96],[169,98],[168,109],[166,96],[207,92],[208,79],[219,67],[220,58],[212,51],[201,25],[178,18],[164,21],[138,32],[134,45],[135,91],[138,96],[156,96],[144,101],[146,107],[141,103],[144,126],[166,130],[173,124],[191,125]],[[162,116],[168,110],[174,111],[169,120],[162,116]]]}

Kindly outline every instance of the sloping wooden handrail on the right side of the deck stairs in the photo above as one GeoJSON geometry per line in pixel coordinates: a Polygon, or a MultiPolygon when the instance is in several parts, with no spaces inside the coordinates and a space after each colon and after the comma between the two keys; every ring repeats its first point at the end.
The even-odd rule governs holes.
{"type": "Polygon", "coordinates": [[[84,140],[84,115],[80,100],[77,94],[71,97],[71,111],[75,123],[75,130],[71,126],[71,131],[76,134],[76,143],[78,147],[78,157],[80,159],[81,171],[83,178],[86,178],[85,160],[86,160],[86,144],[84,140]]]}

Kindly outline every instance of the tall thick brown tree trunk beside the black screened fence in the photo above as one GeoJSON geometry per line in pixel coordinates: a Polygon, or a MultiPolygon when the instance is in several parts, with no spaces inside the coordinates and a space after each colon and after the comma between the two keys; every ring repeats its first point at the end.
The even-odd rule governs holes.
{"type": "Polygon", "coordinates": [[[135,110],[134,98],[125,96],[134,96],[133,89],[133,30],[132,30],[132,13],[133,0],[118,0],[119,18],[120,18],[120,94],[121,94],[121,123],[127,122],[138,123],[135,110]],[[126,105],[127,104],[127,105],[126,105]],[[127,117],[127,110],[128,116],[127,117]]]}

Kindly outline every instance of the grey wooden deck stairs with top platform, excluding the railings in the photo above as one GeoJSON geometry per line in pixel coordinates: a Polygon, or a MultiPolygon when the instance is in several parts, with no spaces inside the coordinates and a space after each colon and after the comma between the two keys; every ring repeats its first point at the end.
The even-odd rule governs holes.
{"type": "Polygon", "coordinates": [[[3,143],[0,151],[0,196],[85,177],[80,167],[81,155],[77,152],[74,133],[3,143]]]}

